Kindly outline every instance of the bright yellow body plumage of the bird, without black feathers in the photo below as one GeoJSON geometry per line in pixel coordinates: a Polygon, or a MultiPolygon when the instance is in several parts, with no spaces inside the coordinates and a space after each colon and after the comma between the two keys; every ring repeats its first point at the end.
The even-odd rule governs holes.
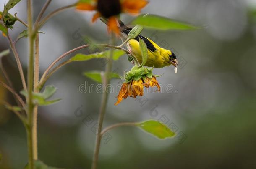
{"type": "MultiPolygon", "coordinates": [[[[154,68],[162,68],[164,66],[169,66],[170,65],[169,55],[171,53],[170,50],[160,48],[156,43],[154,43],[150,39],[149,41],[154,45],[154,47],[156,48],[156,51],[152,52],[151,50],[148,49],[148,60],[145,66],[154,67],[154,68]]],[[[135,39],[131,39],[129,40],[128,45],[130,46],[132,53],[138,59],[138,62],[142,63],[142,56],[141,56],[139,42],[135,39]]]]}

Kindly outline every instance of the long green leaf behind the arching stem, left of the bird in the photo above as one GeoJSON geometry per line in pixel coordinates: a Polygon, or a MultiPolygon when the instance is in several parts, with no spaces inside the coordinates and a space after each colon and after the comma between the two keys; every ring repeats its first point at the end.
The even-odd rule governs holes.
{"type": "MultiPolygon", "coordinates": [[[[120,56],[124,55],[125,52],[123,50],[114,50],[113,52],[113,60],[118,60],[120,56]]],[[[70,60],[71,61],[88,61],[91,59],[98,59],[98,58],[108,58],[110,55],[110,50],[105,50],[100,53],[93,53],[89,55],[78,53],[75,56],[73,56],[70,60]]]]}

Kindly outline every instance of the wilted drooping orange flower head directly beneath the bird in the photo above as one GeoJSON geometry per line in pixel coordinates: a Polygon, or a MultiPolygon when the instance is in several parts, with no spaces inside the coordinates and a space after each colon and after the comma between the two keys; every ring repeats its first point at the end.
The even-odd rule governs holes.
{"type": "Polygon", "coordinates": [[[157,91],[160,91],[160,85],[156,79],[156,76],[152,75],[152,69],[138,66],[134,66],[131,71],[125,74],[125,83],[123,83],[119,93],[118,100],[115,105],[118,105],[123,98],[128,96],[136,98],[137,96],[143,96],[143,88],[157,87],[157,91]]]}

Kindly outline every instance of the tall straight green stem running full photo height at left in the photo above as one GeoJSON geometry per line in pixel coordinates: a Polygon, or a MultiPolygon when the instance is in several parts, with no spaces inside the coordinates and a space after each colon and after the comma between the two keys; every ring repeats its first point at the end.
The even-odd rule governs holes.
{"type": "Polygon", "coordinates": [[[29,169],[34,169],[34,150],[33,150],[33,78],[34,78],[34,36],[33,36],[33,18],[32,18],[32,0],[27,0],[27,20],[28,20],[28,46],[29,46],[29,64],[27,71],[27,83],[28,83],[28,96],[27,96],[27,111],[28,111],[28,125],[27,141],[28,141],[28,152],[29,152],[29,169]]]}

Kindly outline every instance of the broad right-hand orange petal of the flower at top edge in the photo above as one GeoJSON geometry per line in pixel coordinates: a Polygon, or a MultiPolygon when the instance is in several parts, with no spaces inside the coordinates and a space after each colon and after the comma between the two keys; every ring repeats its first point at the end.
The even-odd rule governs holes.
{"type": "Polygon", "coordinates": [[[148,3],[147,0],[124,0],[122,8],[126,13],[138,14],[148,3]]]}

